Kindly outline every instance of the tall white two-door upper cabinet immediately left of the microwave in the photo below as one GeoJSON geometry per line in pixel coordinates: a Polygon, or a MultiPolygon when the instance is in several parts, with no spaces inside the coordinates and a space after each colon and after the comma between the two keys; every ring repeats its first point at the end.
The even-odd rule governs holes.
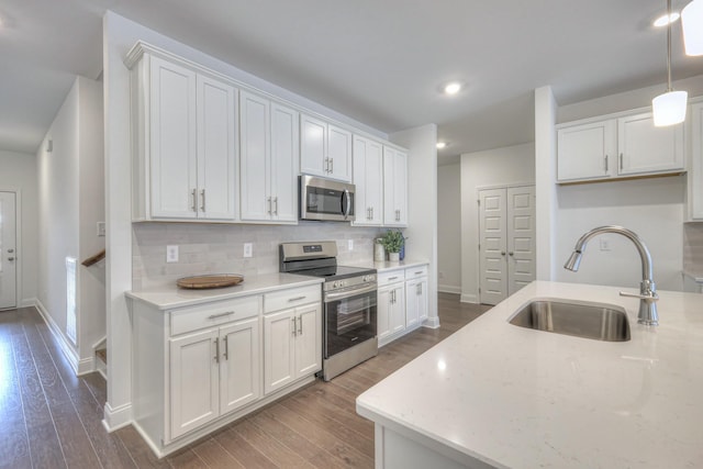
{"type": "Polygon", "coordinates": [[[298,111],[239,97],[242,221],[297,223],[298,111]]]}

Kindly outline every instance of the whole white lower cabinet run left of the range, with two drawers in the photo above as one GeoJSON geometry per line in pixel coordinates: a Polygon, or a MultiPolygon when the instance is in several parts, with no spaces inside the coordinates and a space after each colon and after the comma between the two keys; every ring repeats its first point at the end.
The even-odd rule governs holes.
{"type": "Polygon", "coordinates": [[[134,299],[134,426],[164,456],[313,380],[321,300],[319,283],[182,308],[134,299]]]}

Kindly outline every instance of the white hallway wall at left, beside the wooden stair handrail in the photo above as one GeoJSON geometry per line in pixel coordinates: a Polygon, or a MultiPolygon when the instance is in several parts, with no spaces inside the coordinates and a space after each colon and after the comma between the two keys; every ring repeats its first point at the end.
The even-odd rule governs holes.
{"type": "Polygon", "coordinates": [[[79,77],[38,149],[37,306],[64,337],[79,372],[92,370],[92,345],[104,335],[104,275],[80,261],[104,247],[102,85],[79,77]],[[52,152],[47,150],[52,142],[52,152]],[[77,334],[66,335],[66,258],[77,260],[77,334]]]}

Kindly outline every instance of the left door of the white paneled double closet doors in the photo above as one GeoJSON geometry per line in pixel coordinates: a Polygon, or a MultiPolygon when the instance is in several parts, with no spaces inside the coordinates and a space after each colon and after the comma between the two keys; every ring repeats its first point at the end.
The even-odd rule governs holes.
{"type": "Polygon", "coordinates": [[[505,189],[479,191],[480,301],[498,304],[507,297],[505,189]]]}

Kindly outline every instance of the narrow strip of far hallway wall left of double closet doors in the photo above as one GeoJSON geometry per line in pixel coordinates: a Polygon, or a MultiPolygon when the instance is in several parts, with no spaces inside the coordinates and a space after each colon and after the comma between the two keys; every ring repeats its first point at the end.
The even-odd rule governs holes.
{"type": "Polygon", "coordinates": [[[437,168],[437,290],[461,293],[461,166],[437,168]]]}

